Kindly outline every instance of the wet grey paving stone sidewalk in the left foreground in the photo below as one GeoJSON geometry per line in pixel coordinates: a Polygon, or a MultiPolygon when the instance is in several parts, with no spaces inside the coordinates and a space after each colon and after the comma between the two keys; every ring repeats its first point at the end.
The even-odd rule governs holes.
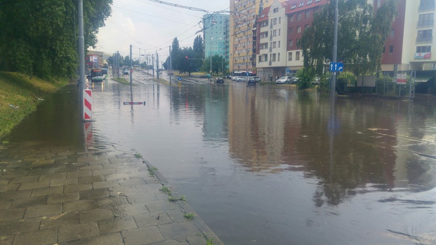
{"type": "Polygon", "coordinates": [[[135,153],[0,148],[0,244],[224,244],[135,153]]]}

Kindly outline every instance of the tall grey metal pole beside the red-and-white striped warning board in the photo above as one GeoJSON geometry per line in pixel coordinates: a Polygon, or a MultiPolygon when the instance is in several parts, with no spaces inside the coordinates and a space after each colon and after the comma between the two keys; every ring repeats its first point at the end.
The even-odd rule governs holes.
{"type": "Polygon", "coordinates": [[[77,1],[79,21],[79,103],[80,115],[83,119],[83,90],[85,89],[85,38],[83,37],[83,0],[77,1]]]}

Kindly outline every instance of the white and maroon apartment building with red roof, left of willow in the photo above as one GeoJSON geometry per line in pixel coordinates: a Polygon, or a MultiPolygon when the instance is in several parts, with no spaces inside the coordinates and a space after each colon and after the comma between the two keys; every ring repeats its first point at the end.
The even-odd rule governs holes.
{"type": "Polygon", "coordinates": [[[292,76],[303,68],[302,51],[297,47],[303,31],[328,0],[274,1],[257,20],[257,75],[292,76]]]}

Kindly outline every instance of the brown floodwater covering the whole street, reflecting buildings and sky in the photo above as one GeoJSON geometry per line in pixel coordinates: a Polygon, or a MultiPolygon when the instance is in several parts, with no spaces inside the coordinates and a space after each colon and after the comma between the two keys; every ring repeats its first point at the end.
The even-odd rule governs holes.
{"type": "Polygon", "coordinates": [[[9,141],[134,149],[225,244],[436,244],[434,97],[331,109],[328,94],[231,81],[132,92],[94,85],[85,128],[66,88],[9,141]]]}

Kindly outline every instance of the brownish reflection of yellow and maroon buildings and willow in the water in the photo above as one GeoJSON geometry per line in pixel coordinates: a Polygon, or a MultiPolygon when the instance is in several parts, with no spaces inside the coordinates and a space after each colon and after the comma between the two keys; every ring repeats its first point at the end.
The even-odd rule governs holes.
{"type": "Polygon", "coordinates": [[[282,92],[263,87],[242,96],[229,88],[229,152],[247,171],[304,171],[318,182],[317,206],[337,205],[368,191],[435,185],[428,161],[400,150],[414,143],[411,125],[425,126],[424,120],[407,116],[413,115],[405,111],[407,103],[338,99],[330,122],[328,97],[282,92]]]}

